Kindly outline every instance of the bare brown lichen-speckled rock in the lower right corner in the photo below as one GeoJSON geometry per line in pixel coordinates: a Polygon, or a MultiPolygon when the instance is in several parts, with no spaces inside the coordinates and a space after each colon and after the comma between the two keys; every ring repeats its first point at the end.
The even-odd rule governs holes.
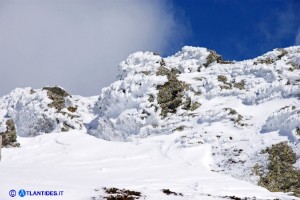
{"type": "Polygon", "coordinates": [[[287,142],[281,142],[263,150],[268,153],[268,172],[263,174],[259,167],[255,166],[260,180],[258,184],[272,192],[293,192],[300,197],[300,170],[293,164],[296,163],[297,156],[287,142]]]}

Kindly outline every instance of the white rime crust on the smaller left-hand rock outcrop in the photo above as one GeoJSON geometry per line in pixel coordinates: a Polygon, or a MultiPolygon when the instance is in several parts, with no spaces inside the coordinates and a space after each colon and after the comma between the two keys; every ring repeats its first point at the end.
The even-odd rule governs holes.
{"type": "Polygon", "coordinates": [[[83,129],[85,117],[91,115],[89,104],[93,102],[72,96],[67,96],[64,100],[65,107],[57,110],[49,106],[52,100],[49,99],[47,90],[17,88],[0,98],[1,128],[5,130],[6,121],[12,119],[17,134],[23,137],[83,129]],[[70,111],[68,108],[74,108],[76,111],[70,111]]]}

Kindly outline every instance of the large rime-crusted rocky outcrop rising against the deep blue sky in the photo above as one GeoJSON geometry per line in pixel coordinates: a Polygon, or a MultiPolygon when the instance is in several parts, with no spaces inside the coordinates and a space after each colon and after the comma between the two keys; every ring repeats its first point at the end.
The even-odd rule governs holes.
{"type": "Polygon", "coordinates": [[[264,149],[282,141],[300,148],[299,58],[300,47],[241,62],[195,47],[167,58],[132,54],[102,90],[90,133],[130,141],[182,131],[181,148],[209,143],[213,170],[257,183],[255,166],[269,167],[264,149]]]}

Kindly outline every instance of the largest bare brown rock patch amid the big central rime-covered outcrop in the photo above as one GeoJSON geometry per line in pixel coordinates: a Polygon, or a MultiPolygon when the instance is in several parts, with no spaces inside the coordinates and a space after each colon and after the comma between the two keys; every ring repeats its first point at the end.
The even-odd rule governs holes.
{"type": "Polygon", "coordinates": [[[162,60],[161,66],[156,72],[157,76],[167,76],[168,81],[164,85],[157,86],[157,101],[161,107],[161,115],[166,117],[168,113],[175,113],[182,105],[183,91],[188,88],[187,84],[177,79],[180,73],[177,69],[167,69],[162,60]]]}

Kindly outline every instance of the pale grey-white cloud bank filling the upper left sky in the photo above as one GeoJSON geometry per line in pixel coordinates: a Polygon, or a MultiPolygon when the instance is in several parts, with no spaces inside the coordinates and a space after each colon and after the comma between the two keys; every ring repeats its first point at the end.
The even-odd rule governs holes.
{"type": "Polygon", "coordinates": [[[168,3],[0,0],[0,95],[56,84],[73,94],[99,94],[128,54],[165,53],[182,39],[185,27],[168,3]]]}

